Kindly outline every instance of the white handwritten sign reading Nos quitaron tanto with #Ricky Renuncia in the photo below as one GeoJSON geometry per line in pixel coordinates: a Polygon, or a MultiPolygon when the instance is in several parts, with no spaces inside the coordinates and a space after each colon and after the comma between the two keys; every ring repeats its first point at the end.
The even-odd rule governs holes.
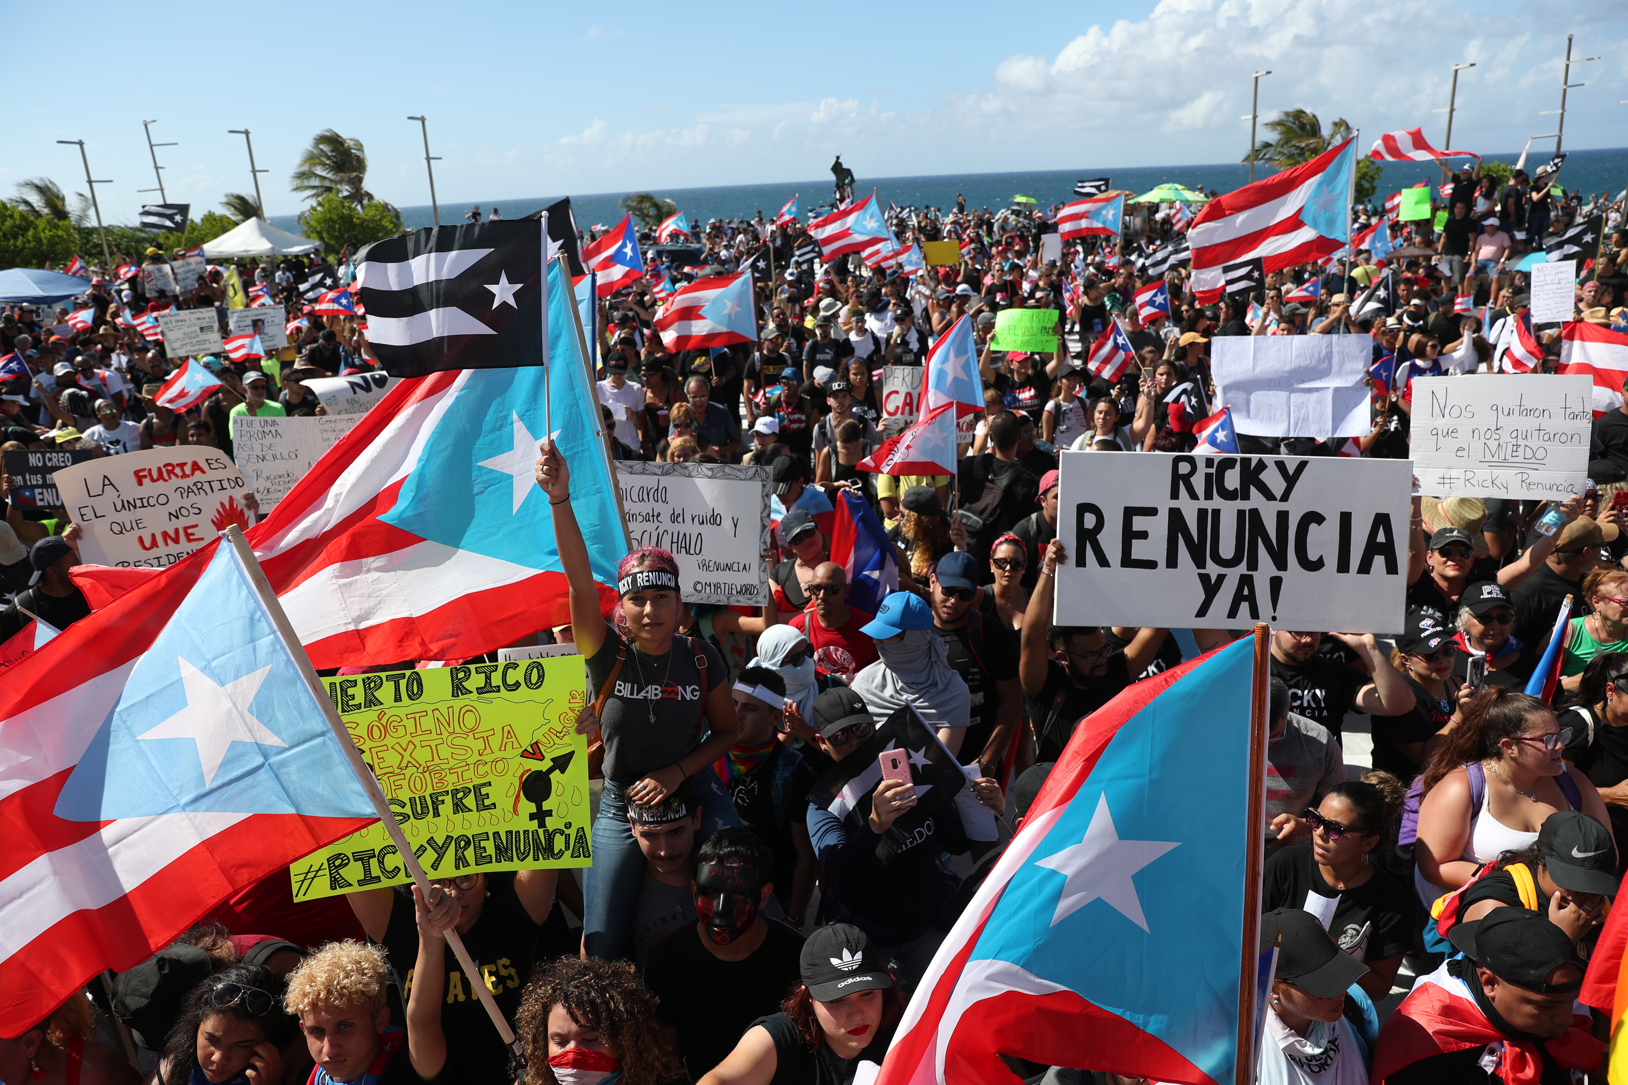
{"type": "Polygon", "coordinates": [[[1431,496],[1565,501],[1582,493],[1592,428],[1587,376],[1413,379],[1413,473],[1431,496]]]}

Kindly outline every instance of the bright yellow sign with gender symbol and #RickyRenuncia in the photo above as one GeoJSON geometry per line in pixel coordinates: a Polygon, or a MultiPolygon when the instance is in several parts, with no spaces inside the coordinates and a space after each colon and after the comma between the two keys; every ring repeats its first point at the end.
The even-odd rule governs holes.
{"type": "MultiPolygon", "coordinates": [[[[588,867],[581,656],[324,678],[431,878],[588,867]]],[[[383,825],[288,867],[296,901],[410,877],[383,825]]]]}

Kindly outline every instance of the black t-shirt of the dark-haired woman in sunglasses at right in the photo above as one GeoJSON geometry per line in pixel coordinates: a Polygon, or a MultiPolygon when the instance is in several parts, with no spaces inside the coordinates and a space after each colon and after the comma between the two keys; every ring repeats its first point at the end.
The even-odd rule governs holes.
{"type": "Polygon", "coordinates": [[[1340,901],[1335,904],[1328,934],[1346,952],[1361,943],[1363,953],[1353,955],[1358,960],[1382,961],[1397,953],[1407,953],[1413,945],[1411,893],[1397,885],[1397,880],[1382,869],[1374,867],[1374,875],[1368,882],[1340,891],[1324,878],[1311,844],[1283,848],[1267,859],[1267,872],[1260,887],[1262,911],[1306,908],[1309,893],[1340,901]],[[1363,927],[1368,927],[1366,940],[1363,927]]]}

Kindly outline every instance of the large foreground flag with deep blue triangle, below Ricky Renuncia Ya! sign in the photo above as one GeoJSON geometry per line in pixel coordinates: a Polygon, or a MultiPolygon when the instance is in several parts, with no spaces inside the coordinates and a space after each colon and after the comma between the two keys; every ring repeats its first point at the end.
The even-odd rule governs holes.
{"type": "Polygon", "coordinates": [[[1260,846],[1242,782],[1252,667],[1252,639],[1234,641],[1079,722],[917,986],[877,1085],[1014,1080],[1001,1056],[1234,1080],[1260,846]]]}

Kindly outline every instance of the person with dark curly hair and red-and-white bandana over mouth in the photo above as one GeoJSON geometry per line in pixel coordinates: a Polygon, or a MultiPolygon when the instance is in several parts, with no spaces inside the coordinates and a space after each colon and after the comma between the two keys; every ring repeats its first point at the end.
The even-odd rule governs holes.
{"type": "Polygon", "coordinates": [[[656,1018],[656,999],[625,961],[558,958],[526,986],[514,1035],[524,1059],[518,1085],[667,1085],[684,1078],[656,1018]]]}

